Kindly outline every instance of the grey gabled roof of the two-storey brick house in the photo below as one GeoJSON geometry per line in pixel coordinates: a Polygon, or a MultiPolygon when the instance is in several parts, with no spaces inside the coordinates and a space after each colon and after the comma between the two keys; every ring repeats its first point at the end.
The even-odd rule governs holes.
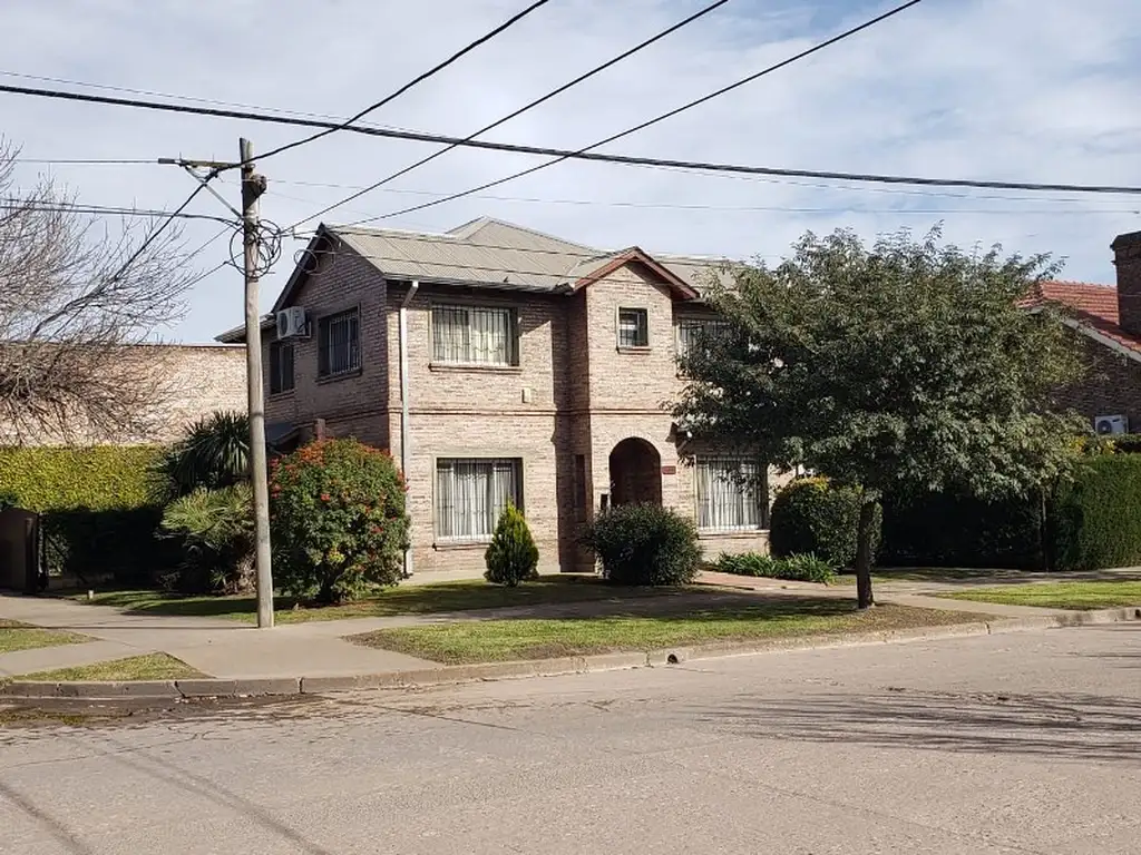
{"type": "MultiPolygon", "coordinates": [[[[353,250],[386,279],[549,294],[570,293],[624,263],[636,262],[680,299],[694,300],[709,282],[705,271],[719,263],[713,259],[650,255],[638,247],[598,250],[489,217],[443,234],[322,225],[304,261],[311,266],[313,259],[337,245],[353,250]]],[[[289,304],[308,275],[306,263],[298,264],[274,311],[289,304]]]]}

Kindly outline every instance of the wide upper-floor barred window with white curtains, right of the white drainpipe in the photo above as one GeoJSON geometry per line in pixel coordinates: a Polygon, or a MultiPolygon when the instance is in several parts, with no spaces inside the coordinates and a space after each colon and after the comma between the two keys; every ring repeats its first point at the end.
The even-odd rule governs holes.
{"type": "Polygon", "coordinates": [[[519,364],[512,309],[434,306],[431,328],[435,363],[501,366],[519,364]]]}

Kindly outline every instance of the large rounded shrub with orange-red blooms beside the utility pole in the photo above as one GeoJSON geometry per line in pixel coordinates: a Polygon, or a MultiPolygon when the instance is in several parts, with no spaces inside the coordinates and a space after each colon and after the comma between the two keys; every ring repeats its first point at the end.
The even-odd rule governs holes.
{"type": "Polygon", "coordinates": [[[355,439],[318,440],[274,461],[274,581],[323,603],[395,585],[408,543],[404,492],[391,456],[355,439]]]}

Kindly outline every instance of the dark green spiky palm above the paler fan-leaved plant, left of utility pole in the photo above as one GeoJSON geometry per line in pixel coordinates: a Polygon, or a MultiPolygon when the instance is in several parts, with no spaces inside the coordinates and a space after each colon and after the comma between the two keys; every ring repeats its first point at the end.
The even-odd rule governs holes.
{"type": "Polygon", "coordinates": [[[250,471],[250,420],[219,410],[195,422],[159,464],[168,497],[199,488],[219,489],[244,482],[250,471]]]}

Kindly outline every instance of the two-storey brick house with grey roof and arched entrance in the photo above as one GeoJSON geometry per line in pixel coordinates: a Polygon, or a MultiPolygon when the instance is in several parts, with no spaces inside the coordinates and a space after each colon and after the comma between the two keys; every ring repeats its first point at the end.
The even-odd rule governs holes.
{"type": "Polygon", "coordinates": [[[418,571],[483,567],[509,500],[547,569],[592,569],[585,523],[631,502],[694,519],[707,554],[764,549],[764,462],[695,446],[669,412],[678,349],[714,323],[712,263],[491,219],[445,235],[323,226],[262,324],[267,433],[389,449],[418,571]],[[304,334],[278,339],[291,309],[304,334]]]}

